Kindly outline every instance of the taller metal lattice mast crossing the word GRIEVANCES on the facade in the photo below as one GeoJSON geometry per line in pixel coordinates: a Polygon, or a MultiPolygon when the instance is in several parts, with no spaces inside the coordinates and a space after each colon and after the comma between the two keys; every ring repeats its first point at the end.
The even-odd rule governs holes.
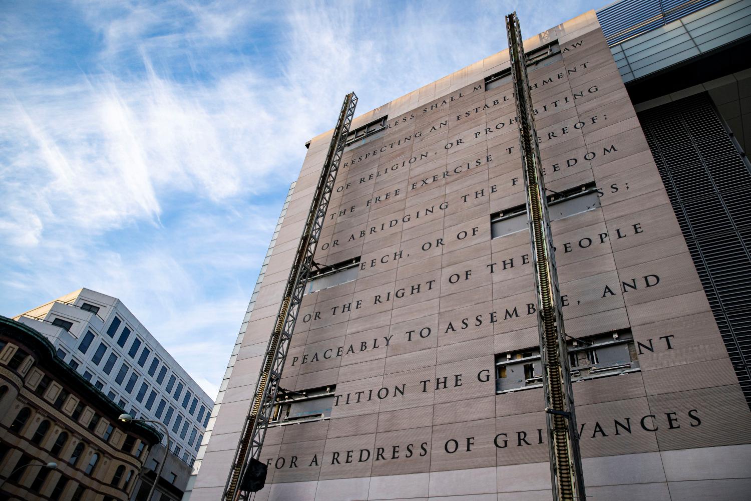
{"type": "Polygon", "coordinates": [[[547,444],[550,449],[550,475],[555,501],[585,501],[574,397],[566,352],[566,330],[561,315],[558,273],[547,213],[547,197],[542,177],[540,149],[529,92],[529,77],[523,41],[516,13],[506,16],[508,53],[514,81],[517,124],[532,265],[537,291],[537,325],[540,337],[542,386],[547,418],[547,444]]]}

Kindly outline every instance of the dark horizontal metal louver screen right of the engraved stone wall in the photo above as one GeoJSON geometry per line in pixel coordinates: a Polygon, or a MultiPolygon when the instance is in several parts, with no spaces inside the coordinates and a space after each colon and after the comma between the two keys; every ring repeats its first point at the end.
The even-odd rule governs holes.
{"type": "Polygon", "coordinates": [[[706,93],[639,113],[751,406],[751,173],[706,93]]]}

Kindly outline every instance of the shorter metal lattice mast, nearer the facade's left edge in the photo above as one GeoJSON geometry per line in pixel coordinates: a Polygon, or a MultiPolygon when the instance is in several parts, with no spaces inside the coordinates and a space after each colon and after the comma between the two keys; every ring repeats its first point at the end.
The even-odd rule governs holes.
{"type": "Polygon", "coordinates": [[[318,238],[321,236],[321,228],[336,182],[336,172],[339,171],[339,161],[342,159],[356,106],[357,95],[350,92],[345,96],[342,110],[339,112],[339,120],[336,122],[331,137],[321,177],[318,179],[318,186],[310,204],[308,219],[289,272],[282,303],[276,316],[276,324],[274,324],[274,330],[264,355],[264,364],[258,374],[252,406],[243,424],[232,469],[225,484],[224,493],[222,493],[222,499],[225,501],[248,499],[249,493],[263,487],[266,479],[266,465],[259,461],[261,447],[264,445],[264,437],[273,403],[276,400],[276,393],[279,391],[279,382],[282,379],[282,370],[294,324],[300,311],[308,275],[313,266],[313,255],[318,245],[318,238]]]}

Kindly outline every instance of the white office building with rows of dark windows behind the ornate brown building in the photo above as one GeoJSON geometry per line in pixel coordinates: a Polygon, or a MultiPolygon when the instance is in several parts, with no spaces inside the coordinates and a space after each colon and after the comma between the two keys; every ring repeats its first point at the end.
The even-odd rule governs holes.
{"type": "Polygon", "coordinates": [[[171,451],[192,466],[213,399],[119,299],[81,288],[14,318],[125,412],[164,423],[171,451]]]}

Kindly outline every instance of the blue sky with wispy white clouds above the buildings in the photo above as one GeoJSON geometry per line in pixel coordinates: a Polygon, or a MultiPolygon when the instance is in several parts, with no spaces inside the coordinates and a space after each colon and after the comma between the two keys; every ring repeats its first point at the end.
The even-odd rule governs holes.
{"type": "Polygon", "coordinates": [[[604,3],[0,0],[0,313],[119,297],[216,395],[304,143],[604,3]],[[358,113],[358,114],[359,114],[358,113]]]}

